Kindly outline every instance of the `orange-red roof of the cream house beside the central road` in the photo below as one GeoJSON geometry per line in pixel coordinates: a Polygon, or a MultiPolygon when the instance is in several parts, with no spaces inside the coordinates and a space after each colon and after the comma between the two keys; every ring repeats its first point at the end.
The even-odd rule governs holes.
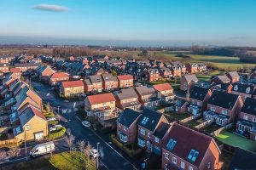
{"type": "Polygon", "coordinates": [[[112,93],[108,93],[88,96],[88,100],[90,101],[90,105],[96,105],[115,101],[115,98],[112,93]]]}

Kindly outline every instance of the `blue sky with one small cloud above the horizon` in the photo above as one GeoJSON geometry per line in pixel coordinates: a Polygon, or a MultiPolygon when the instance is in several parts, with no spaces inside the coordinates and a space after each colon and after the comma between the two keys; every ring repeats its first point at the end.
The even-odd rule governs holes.
{"type": "Polygon", "coordinates": [[[256,1],[0,0],[0,43],[40,40],[256,46],[256,1]]]}

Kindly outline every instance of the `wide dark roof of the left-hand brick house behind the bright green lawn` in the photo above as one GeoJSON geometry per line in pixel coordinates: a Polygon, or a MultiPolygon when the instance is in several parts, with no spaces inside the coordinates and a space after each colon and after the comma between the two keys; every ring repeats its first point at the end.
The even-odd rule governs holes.
{"type": "Polygon", "coordinates": [[[214,91],[208,100],[208,104],[232,110],[238,97],[239,95],[237,94],[227,94],[224,92],[214,91]]]}

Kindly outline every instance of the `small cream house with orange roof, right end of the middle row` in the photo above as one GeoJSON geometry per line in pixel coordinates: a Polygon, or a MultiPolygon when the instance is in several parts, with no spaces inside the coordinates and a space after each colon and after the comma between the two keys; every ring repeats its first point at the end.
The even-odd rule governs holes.
{"type": "Polygon", "coordinates": [[[153,86],[154,90],[157,92],[157,97],[160,101],[170,102],[174,99],[175,94],[173,94],[173,88],[170,83],[155,84],[153,86]]]}

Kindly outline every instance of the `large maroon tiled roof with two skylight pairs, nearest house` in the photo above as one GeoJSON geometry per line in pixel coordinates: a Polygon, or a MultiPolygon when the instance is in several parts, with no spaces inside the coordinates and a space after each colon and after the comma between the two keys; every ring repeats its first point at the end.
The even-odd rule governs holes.
{"type": "Polygon", "coordinates": [[[196,167],[199,167],[212,140],[214,141],[214,139],[212,139],[210,136],[174,123],[163,146],[166,150],[172,152],[172,154],[182,158],[185,161],[189,161],[188,156],[191,150],[197,150],[199,155],[195,159],[195,162],[189,162],[196,167]],[[177,141],[172,150],[166,148],[166,144],[170,139],[177,141]]]}

